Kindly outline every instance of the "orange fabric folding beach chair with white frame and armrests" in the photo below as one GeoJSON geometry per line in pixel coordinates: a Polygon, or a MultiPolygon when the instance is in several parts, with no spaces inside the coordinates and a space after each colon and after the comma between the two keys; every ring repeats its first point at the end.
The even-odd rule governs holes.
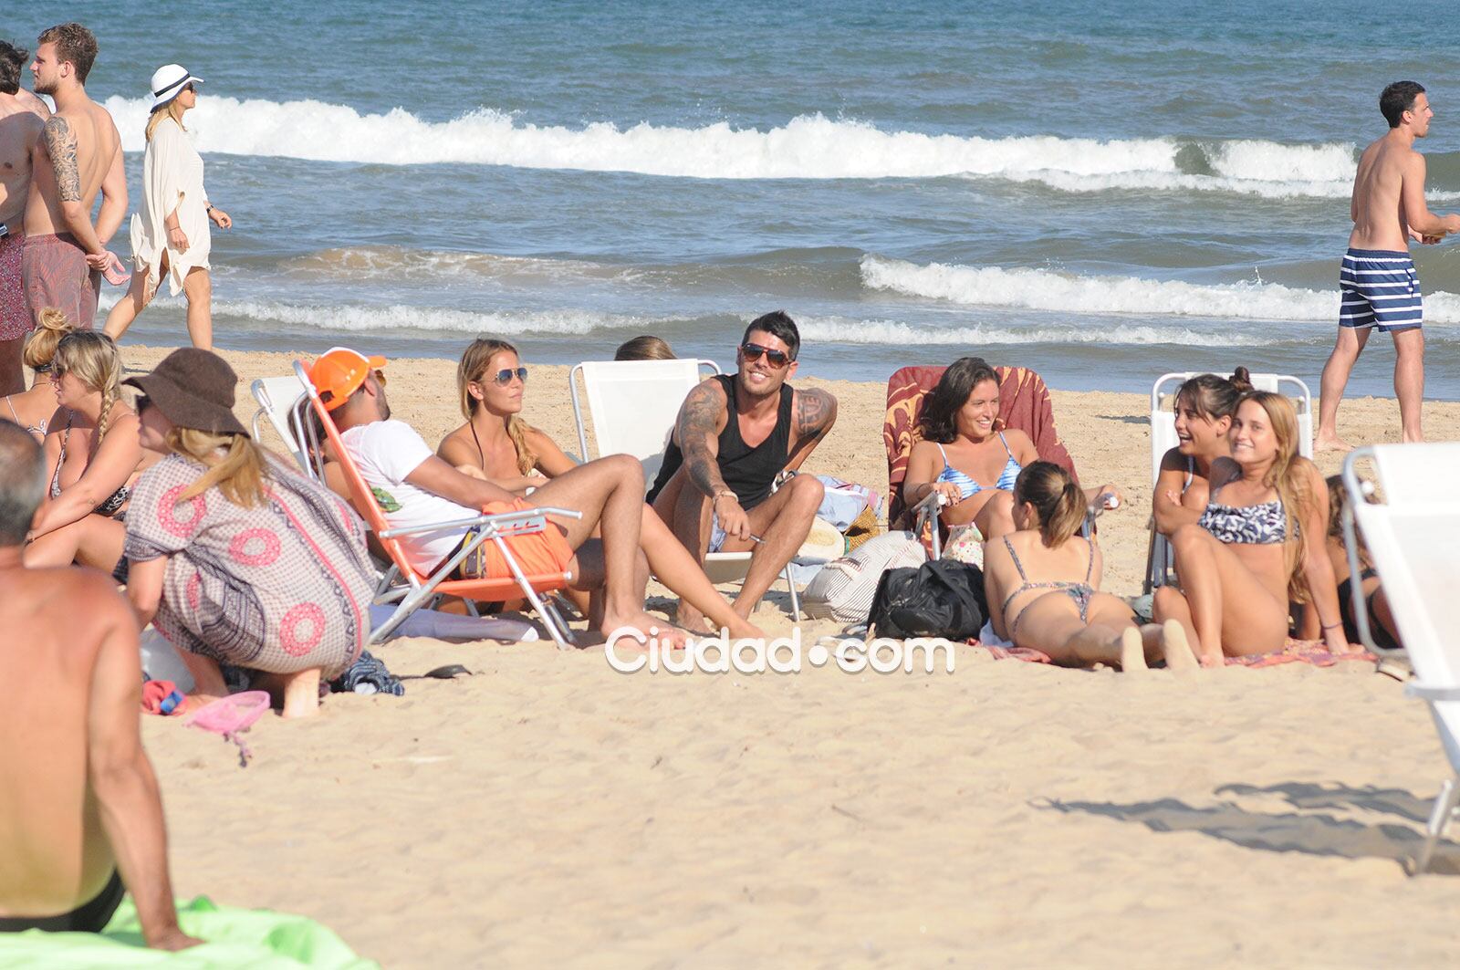
{"type": "MultiPolygon", "coordinates": [[[[369,485],[365,484],[365,479],[361,476],[359,469],[355,467],[355,462],[350,459],[349,451],[345,450],[340,432],[334,428],[334,421],[330,418],[330,412],[326,410],[324,402],[320,400],[318,392],[314,390],[314,384],[310,383],[308,370],[305,370],[304,362],[295,361],[293,371],[298,375],[299,383],[304,386],[310,406],[314,408],[314,413],[320,418],[318,424],[323,427],[326,440],[328,441],[334,456],[339,459],[340,469],[345,472],[345,481],[350,492],[350,504],[355,505],[355,511],[365,519],[365,524],[369,526],[371,532],[375,533],[375,538],[380,539],[380,543],[385,549],[387,555],[390,555],[391,565],[381,578],[380,586],[375,589],[375,602],[396,603],[396,611],[391,614],[390,619],[380,627],[375,627],[371,633],[369,641],[374,644],[385,640],[396,630],[396,627],[410,616],[410,614],[422,606],[426,606],[428,603],[435,602],[441,596],[460,596],[466,600],[467,609],[472,615],[476,615],[474,603],[477,600],[507,602],[526,597],[542,618],[543,625],[548,627],[548,633],[558,644],[558,649],[566,650],[569,647],[568,624],[564,622],[558,609],[552,605],[552,600],[539,596],[539,593],[564,589],[572,580],[572,574],[524,574],[521,567],[517,564],[517,557],[512,555],[507,538],[512,535],[542,532],[543,529],[553,527],[552,523],[548,522],[549,514],[566,519],[583,519],[583,513],[571,508],[543,507],[496,516],[476,516],[472,519],[461,519],[458,522],[437,522],[410,529],[391,529],[390,523],[385,522],[385,516],[381,511],[380,504],[375,501],[375,495],[371,492],[369,485]],[[413,532],[460,529],[466,533],[467,529],[473,527],[480,527],[476,538],[472,542],[463,543],[463,546],[457,549],[456,555],[438,565],[437,570],[429,574],[413,567],[410,560],[406,558],[404,549],[400,546],[400,536],[410,535],[413,532]],[[476,552],[477,546],[483,542],[496,543],[498,551],[502,554],[502,560],[507,562],[512,574],[505,578],[451,578],[456,568],[466,561],[469,555],[476,552]]],[[[314,422],[304,424],[304,431],[307,434],[305,451],[318,456],[320,465],[314,469],[314,475],[323,482],[323,443],[315,438],[314,422]]]]}

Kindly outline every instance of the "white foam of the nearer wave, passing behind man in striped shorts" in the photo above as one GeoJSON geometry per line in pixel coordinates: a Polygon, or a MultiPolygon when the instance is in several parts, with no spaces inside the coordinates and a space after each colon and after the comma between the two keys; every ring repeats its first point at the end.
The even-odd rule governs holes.
{"type": "MultiPolygon", "coordinates": [[[[1337,283],[1326,291],[1256,279],[1202,285],[1136,276],[1076,276],[1047,269],[918,266],[876,256],[861,260],[861,280],[872,289],[981,307],[1235,320],[1337,323],[1339,318],[1337,283]]],[[[1460,323],[1460,295],[1425,294],[1425,321],[1460,323]]]]}

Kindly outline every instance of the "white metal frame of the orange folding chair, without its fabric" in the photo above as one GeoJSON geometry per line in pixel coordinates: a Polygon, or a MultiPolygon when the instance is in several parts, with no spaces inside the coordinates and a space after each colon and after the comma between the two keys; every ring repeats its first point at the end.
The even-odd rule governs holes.
{"type": "MultiPolygon", "coordinates": [[[[304,370],[304,364],[295,361],[293,370],[295,374],[298,375],[299,383],[304,386],[304,393],[310,400],[310,406],[315,408],[317,413],[323,412],[324,405],[320,403],[320,396],[314,390],[314,384],[310,383],[310,377],[304,370]]],[[[307,465],[307,467],[310,467],[310,472],[317,481],[323,482],[324,448],[320,447],[320,440],[315,435],[314,424],[304,421],[298,421],[296,424],[302,425],[299,440],[308,443],[308,453],[320,456],[318,459],[321,463],[320,466],[310,467],[307,465]]],[[[340,459],[349,460],[349,456],[340,456],[340,459]]],[[[352,492],[355,491],[353,486],[350,491],[352,492]]],[[[442,529],[460,529],[464,533],[467,529],[480,527],[480,532],[476,535],[476,538],[472,539],[472,542],[467,542],[460,549],[457,549],[450,560],[437,567],[435,571],[432,571],[429,576],[420,576],[415,570],[403,570],[400,565],[400,555],[397,555],[396,543],[384,542],[387,551],[391,554],[391,565],[375,587],[374,602],[397,603],[397,605],[396,605],[396,612],[391,614],[390,619],[387,619],[383,625],[371,631],[369,643],[371,644],[381,643],[410,614],[434,602],[441,595],[437,592],[439,586],[442,584],[469,586],[469,583],[451,580],[451,574],[463,561],[466,561],[469,555],[476,552],[476,549],[483,542],[495,542],[498,551],[502,554],[502,561],[507,562],[507,568],[511,570],[512,573],[517,587],[521,590],[523,596],[527,597],[527,602],[531,603],[533,609],[542,618],[543,625],[548,627],[548,633],[552,635],[553,643],[558,644],[559,650],[568,650],[571,647],[571,644],[568,643],[568,624],[564,622],[562,615],[552,605],[550,599],[545,599],[537,595],[537,590],[533,589],[531,581],[529,581],[527,576],[523,573],[521,565],[518,565],[517,557],[512,555],[511,546],[507,545],[507,536],[510,535],[533,533],[546,529],[549,524],[548,516],[550,514],[561,516],[564,519],[583,519],[581,511],[543,505],[539,508],[502,513],[495,516],[473,516],[456,522],[434,522],[425,526],[412,526],[407,529],[381,529],[377,535],[383,542],[388,539],[399,539],[400,536],[407,536],[418,532],[439,532],[442,529]]],[[[366,520],[377,517],[383,520],[383,516],[368,516],[366,520]]],[[[571,578],[572,576],[569,573],[564,573],[565,583],[569,581],[571,578]]],[[[483,584],[485,583],[486,581],[483,580],[483,584]]],[[[476,603],[472,599],[466,599],[464,602],[467,605],[467,611],[473,616],[477,615],[476,603]]]]}

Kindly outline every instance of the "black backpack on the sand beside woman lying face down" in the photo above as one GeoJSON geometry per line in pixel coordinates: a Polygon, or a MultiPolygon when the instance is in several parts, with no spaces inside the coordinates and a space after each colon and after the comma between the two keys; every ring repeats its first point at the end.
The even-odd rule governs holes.
{"type": "Polygon", "coordinates": [[[987,615],[983,570],[953,560],[931,560],[883,573],[867,624],[877,637],[969,640],[983,630],[987,615]]]}

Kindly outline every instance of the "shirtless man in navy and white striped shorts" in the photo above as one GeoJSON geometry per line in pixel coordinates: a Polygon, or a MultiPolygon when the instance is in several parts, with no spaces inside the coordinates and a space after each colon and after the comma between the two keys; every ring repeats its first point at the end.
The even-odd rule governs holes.
{"type": "Polygon", "coordinates": [[[1419,278],[1409,259],[1409,240],[1432,245],[1460,232],[1460,215],[1437,216],[1425,205],[1425,156],[1415,139],[1429,133],[1429,99],[1412,80],[1384,89],[1378,110],[1388,134],[1364,149],[1353,175],[1349,215],[1353,232],[1339,270],[1343,305],[1339,339],[1323,367],[1318,432],[1314,448],[1349,451],[1339,438],[1339,400],[1372,329],[1394,335],[1394,394],[1405,441],[1424,441],[1419,429],[1425,399],[1425,336],[1419,278]]]}

